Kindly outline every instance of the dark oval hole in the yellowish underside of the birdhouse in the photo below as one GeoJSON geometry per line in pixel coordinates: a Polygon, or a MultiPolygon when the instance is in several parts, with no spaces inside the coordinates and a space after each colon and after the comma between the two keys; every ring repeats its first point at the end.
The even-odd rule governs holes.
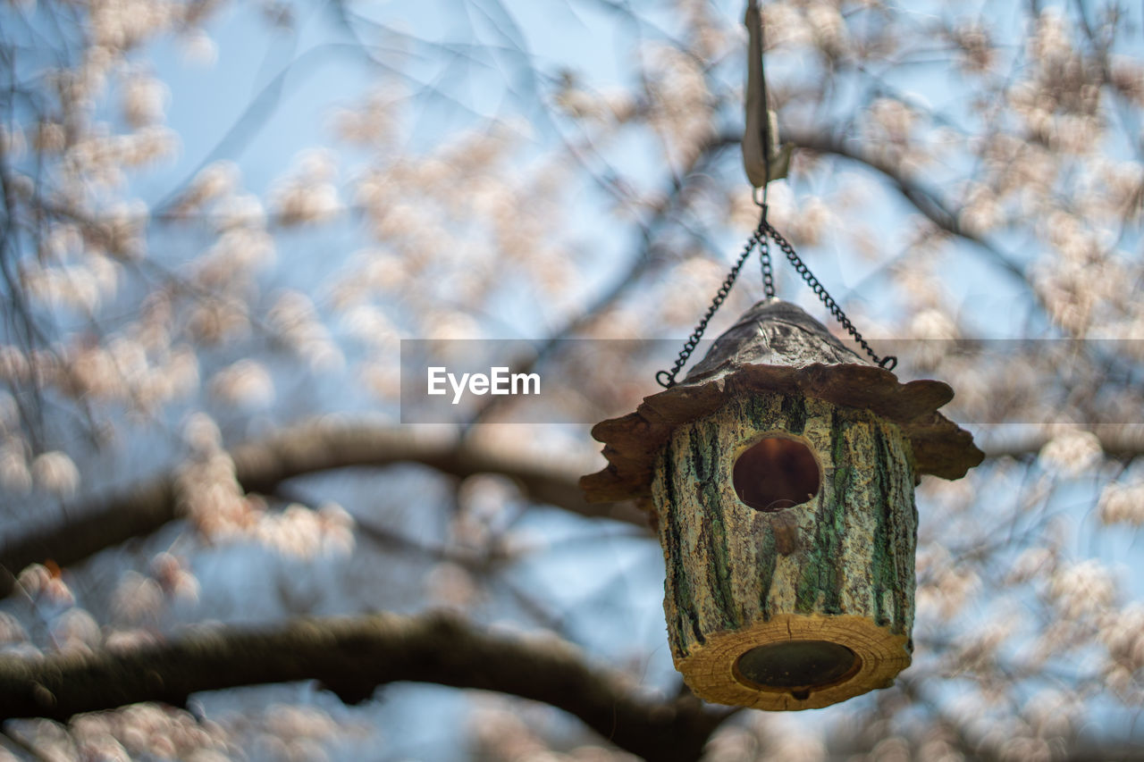
{"type": "Polygon", "coordinates": [[[810,691],[853,675],[861,659],[828,641],[786,641],[750,649],[734,665],[734,676],[748,688],[789,692],[805,700],[810,691]]]}

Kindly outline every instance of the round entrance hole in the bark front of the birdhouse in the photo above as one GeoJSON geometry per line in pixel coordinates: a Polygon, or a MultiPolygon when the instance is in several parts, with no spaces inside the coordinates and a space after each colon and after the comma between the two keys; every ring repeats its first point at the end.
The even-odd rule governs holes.
{"type": "Polygon", "coordinates": [[[731,481],[739,500],[763,511],[807,502],[821,486],[810,447],[786,437],[766,437],[747,449],[734,461],[731,481]]]}

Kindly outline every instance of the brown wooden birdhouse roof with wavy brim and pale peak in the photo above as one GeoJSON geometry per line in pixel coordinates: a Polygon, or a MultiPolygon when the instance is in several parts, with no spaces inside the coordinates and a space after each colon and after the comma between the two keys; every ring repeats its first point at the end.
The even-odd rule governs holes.
{"type": "Polygon", "coordinates": [[[682,382],[593,427],[609,465],[580,479],[585,495],[591,502],[650,497],[656,457],[675,427],[714,413],[731,396],[758,391],[872,411],[901,429],[917,474],[961,478],[985,457],[972,435],[937,412],[953,399],[950,384],[899,383],[801,308],[771,299],[723,333],[682,382]]]}

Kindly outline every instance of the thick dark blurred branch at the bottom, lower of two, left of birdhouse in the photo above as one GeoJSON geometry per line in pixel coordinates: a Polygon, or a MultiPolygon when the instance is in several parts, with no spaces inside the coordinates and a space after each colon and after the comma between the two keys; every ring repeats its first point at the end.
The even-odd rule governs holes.
{"type": "Polygon", "coordinates": [[[399,681],[510,693],[569,712],[652,760],[696,760],[723,714],[654,701],[589,667],[563,641],[492,636],[445,614],[302,619],[272,632],[220,628],[128,652],[0,658],[0,716],[66,720],[199,691],[317,680],[357,704],[399,681]]]}

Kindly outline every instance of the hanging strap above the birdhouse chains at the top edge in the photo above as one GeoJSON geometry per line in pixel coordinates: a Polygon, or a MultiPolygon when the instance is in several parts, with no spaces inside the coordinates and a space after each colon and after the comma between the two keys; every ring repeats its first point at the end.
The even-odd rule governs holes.
{"type": "Polygon", "coordinates": [[[742,133],[742,168],[755,188],[786,177],[791,166],[789,145],[779,145],[778,118],[766,110],[766,78],[763,76],[763,18],[757,0],[747,3],[746,128],[742,133]]]}

